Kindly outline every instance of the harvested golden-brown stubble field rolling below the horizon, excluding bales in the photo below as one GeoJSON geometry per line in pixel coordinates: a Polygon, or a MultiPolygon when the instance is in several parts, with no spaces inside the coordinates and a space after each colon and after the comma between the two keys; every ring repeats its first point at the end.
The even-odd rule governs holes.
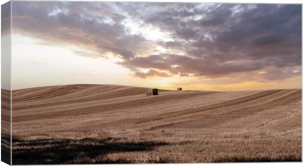
{"type": "Polygon", "coordinates": [[[301,89],[16,90],[13,164],[301,161],[301,98],[301,89]]]}

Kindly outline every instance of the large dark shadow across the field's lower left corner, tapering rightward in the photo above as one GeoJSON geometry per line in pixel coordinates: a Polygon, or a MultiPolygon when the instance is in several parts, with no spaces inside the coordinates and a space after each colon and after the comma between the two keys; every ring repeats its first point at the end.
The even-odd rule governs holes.
{"type": "Polygon", "coordinates": [[[155,141],[128,142],[120,138],[13,139],[13,165],[131,163],[128,160],[109,160],[103,157],[115,152],[151,151],[157,146],[170,144],[155,141]]]}

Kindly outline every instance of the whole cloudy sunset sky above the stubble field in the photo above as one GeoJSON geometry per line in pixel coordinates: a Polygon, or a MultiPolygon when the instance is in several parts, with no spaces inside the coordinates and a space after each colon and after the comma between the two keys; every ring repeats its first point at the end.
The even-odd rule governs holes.
{"type": "Polygon", "coordinates": [[[12,1],[12,88],[302,87],[298,4],[12,1]]]}

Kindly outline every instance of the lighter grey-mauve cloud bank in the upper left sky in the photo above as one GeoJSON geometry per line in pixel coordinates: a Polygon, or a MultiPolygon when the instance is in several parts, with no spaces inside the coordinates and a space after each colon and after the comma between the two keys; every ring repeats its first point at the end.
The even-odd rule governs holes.
{"type": "Polygon", "coordinates": [[[18,1],[12,7],[16,32],[51,43],[86,46],[122,59],[135,56],[131,44],[147,44],[146,38],[126,30],[122,24],[125,16],[117,13],[111,3],[18,1]]]}

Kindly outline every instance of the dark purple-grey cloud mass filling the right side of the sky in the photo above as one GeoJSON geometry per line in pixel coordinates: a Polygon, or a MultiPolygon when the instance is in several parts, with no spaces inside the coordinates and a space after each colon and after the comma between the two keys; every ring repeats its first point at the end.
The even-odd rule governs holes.
{"type": "Polygon", "coordinates": [[[272,80],[277,74],[282,79],[300,75],[291,73],[293,67],[302,65],[301,5],[193,4],[189,8],[165,6],[159,10],[147,7],[153,8],[151,13],[142,8],[130,12],[146,24],[169,32],[175,40],[159,45],[179,49],[185,55],[158,55],[155,61],[153,55],[122,64],[206,77],[268,70],[269,66],[275,69],[266,71],[262,79],[272,80]],[[174,64],[179,67],[173,69],[174,64]],[[283,68],[290,71],[282,72],[283,68]]]}

